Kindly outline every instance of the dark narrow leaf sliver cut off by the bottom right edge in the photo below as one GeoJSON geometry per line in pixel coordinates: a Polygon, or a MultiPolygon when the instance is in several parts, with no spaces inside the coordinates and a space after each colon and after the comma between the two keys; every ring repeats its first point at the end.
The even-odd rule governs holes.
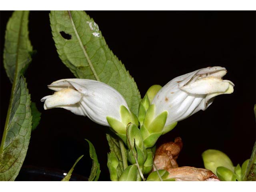
{"type": "Polygon", "coordinates": [[[256,181],[256,142],[254,143],[254,147],[252,149],[252,155],[246,169],[244,180],[256,181]]]}

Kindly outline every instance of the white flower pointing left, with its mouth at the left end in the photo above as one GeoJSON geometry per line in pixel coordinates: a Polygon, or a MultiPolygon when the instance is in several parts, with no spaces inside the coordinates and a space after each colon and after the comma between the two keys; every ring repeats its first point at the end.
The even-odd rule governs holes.
{"type": "Polygon", "coordinates": [[[121,121],[120,107],[128,105],[123,96],[105,83],[88,79],[62,79],[48,85],[53,95],[41,99],[44,109],[64,108],[74,114],[109,126],[106,117],[121,121]]]}

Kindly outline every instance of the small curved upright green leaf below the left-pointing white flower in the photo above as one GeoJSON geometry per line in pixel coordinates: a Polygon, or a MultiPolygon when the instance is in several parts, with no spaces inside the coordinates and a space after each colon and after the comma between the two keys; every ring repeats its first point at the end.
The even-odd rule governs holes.
{"type": "Polygon", "coordinates": [[[97,181],[100,176],[100,164],[98,162],[96,150],[89,140],[85,140],[89,143],[90,157],[92,159],[92,169],[88,181],[97,181]]]}

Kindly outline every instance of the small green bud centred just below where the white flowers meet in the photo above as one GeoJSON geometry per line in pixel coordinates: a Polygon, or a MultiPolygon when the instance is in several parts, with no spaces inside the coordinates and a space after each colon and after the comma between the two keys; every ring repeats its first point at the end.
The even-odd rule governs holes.
{"type": "Polygon", "coordinates": [[[143,139],[140,134],[139,128],[135,124],[130,123],[127,126],[127,139],[126,139],[126,145],[128,146],[129,149],[131,149],[132,146],[134,145],[134,141],[136,146],[138,146],[140,149],[144,148],[143,139]]]}

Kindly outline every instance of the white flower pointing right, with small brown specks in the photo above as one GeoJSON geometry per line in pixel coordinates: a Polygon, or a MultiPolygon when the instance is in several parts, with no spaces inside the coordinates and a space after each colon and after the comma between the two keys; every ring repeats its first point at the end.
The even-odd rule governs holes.
{"type": "Polygon", "coordinates": [[[167,111],[165,126],[168,126],[206,110],[215,96],[234,91],[231,81],[222,80],[226,73],[226,68],[208,67],[174,78],[152,100],[156,107],[154,117],[167,111]]]}

